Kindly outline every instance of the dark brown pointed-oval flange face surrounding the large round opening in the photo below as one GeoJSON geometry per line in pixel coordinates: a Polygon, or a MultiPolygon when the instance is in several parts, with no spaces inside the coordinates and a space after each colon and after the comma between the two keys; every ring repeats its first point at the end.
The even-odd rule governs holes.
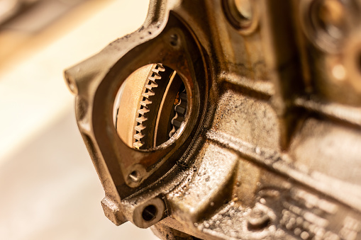
{"type": "MultiPolygon", "coordinates": [[[[137,40],[137,35],[138,33],[133,33],[126,41],[137,40]]],[[[206,101],[201,102],[200,99],[206,99],[208,94],[204,62],[199,45],[196,44],[188,28],[184,27],[177,18],[170,17],[168,25],[159,35],[128,50],[99,81],[99,84],[94,84],[93,95],[87,95],[91,98],[89,102],[92,104],[89,105],[90,116],[87,118],[89,126],[86,128],[91,130],[91,135],[94,135],[92,139],[96,139],[95,149],[99,147],[99,154],[96,156],[104,157],[109,171],[113,173],[113,178],[119,178],[119,175],[114,175],[119,170],[123,175],[123,182],[133,188],[133,190],[126,188],[121,194],[123,197],[134,192],[135,188],[144,183],[145,179],[155,173],[165,161],[174,159],[175,162],[179,159],[180,156],[173,154],[175,152],[184,154],[187,151],[184,142],[190,144],[194,140],[194,135],[198,132],[194,129],[198,129],[206,104],[206,101]],[[150,149],[134,149],[123,142],[114,127],[113,103],[116,101],[118,89],[128,76],[150,63],[162,63],[177,72],[186,88],[189,108],[179,130],[166,142],[150,149]],[[138,169],[138,164],[142,168],[138,169]]],[[[162,168],[162,171],[169,171],[172,167],[172,164],[168,164],[167,169],[162,168]]],[[[163,176],[165,173],[159,174],[163,176]]],[[[150,183],[147,182],[147,185],[150,183]]]]}

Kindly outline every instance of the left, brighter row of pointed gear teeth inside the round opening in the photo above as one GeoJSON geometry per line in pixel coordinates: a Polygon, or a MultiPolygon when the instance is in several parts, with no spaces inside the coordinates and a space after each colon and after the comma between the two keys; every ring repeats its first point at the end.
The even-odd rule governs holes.
{"type": "Polygon", "coordinates": [[[149,112],[148,105],[152,104],[150,98],[155,95],[152,88],[157,88],[158,84],[156,81],[162,79],[160,76],[160,72],[165,72],[165,67],[162,64],[156,64],[155,67],[151,70],[152,74],[148,76],[148,82],[144,86],[144,90],[142,93],[143,99],[140,101],[140,109],[138,109],[138,118],[135,118],[135,135],[133,135],[134,141],[133,147],[136,149],[140,149],[143,146],[144,142],[142,142],[143,135],[142,131],[147,127],[145,122],[148,118],[145,117],[145,114],[149,112]]]}

